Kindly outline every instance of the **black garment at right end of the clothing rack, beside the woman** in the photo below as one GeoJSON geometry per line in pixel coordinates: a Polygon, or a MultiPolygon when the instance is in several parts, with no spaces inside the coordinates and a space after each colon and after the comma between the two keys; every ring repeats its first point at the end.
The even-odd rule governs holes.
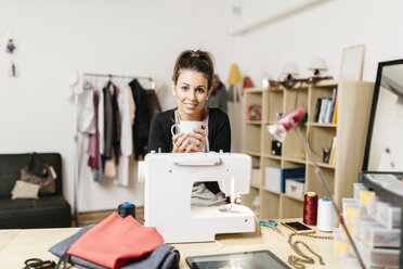
{"type": "Polygon", "coordinates": [[[136,79],[129,84],[135,103],[133,125],[134,158],[144,157],[148,152],[148,130],[154,116],[160,113],[159,101],[154,91],[144,90],[136,79]]]}

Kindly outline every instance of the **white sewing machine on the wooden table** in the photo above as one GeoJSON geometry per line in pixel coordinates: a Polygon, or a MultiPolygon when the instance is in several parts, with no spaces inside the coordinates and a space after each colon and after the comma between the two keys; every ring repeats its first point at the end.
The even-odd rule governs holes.
{"type": "Polygon", "coordinates": [[[191,206],[194,182],[218,181],[231,201],[249,193],[251,158],[240,153],[151,153],[139,163],[145,181],[144,225],[166,243],[213,241],[217,233],[255,232],[246,206],[191,206]]]}

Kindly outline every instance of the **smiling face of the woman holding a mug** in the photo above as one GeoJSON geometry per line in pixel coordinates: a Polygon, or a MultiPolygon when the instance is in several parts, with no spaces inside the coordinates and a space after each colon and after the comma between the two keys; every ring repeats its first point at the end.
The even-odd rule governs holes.
{"type": "Polygon", "coordinates": [[[181,71],[177,85],[172,82],[172,91],[182,119],[202,119],[203,106],[211,93],[211,89],[207,89],[207,86],[208,81],[203,73],[181,71]]]}

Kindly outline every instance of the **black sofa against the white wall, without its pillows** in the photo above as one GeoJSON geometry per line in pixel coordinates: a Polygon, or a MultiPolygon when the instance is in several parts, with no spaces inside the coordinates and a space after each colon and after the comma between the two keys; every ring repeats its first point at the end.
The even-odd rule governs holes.
{"type": "Polygon", "coordinates": [[[56,192],[39,198],[11,200],[11,191],[21,177],[21,168],[30,154],[0,154],[0,229],[70,227],[72,209],[63,196],[62,156],[38,153],[57,175],[56,192]]]}

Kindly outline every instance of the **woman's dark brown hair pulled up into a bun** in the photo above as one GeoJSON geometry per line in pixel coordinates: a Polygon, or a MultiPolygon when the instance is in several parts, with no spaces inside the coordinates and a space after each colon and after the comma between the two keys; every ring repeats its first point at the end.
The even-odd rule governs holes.
{"type": "Polygon", "coordinates": [[[177,85],[181,71],[199,72],[207,78],[208,90],[212,85],[212,76],[214,74],[214,66],[211,53],[207,51],[185,50],[179,54],[173,67],[172,81],[177,85]]]}

